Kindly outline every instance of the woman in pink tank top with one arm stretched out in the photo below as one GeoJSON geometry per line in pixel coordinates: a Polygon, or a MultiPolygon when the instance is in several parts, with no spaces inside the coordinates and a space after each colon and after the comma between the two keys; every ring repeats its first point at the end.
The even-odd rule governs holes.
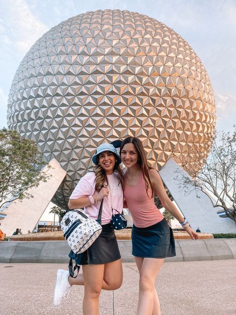
{"type": "Polygon", "coordinates": [[[162,206],[186,229],[191,238],[198,234],[166,194],[158,172],[150,167],[142,142],[128,137],[120,147],[121,160],[127,168],[124,175],[124,198],[132,215],[132,255],[139,270],[139,302],[137,315],[160,315],[155,289],[157,275],[165,257],[175,256],[172,229],[154,203],[156,194],[162,206]]]}

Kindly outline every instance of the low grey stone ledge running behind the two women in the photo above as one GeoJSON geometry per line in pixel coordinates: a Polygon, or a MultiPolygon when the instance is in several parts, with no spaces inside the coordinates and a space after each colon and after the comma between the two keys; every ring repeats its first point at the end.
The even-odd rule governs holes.
{"type": "MultiPolygon", "coordinates": [[[[176,256],[165,262],[236,258],[236,239],[176,240],[176,256]]],[[[134,262],[130,240],[118,240],[123,262],[134,262]]],[[[68,263],[65,241],[0,242],[0,263],[68,263]]]]}

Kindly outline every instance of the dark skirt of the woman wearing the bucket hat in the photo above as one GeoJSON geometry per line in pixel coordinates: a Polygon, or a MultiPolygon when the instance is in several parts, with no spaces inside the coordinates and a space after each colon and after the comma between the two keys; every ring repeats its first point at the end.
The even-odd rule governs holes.
{"type": "Polygon", "coordinates": [[[82,254],[70,251],[69,258],[77,265],[108,264],[120,259],[120,251],[111,224],[102,225],[102,232],[93,244],[82,254]]]}

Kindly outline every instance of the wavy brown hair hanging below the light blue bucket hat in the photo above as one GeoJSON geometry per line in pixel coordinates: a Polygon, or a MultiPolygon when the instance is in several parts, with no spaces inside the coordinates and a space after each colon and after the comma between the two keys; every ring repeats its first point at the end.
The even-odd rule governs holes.
{"type": "MultiPolygon", "coordinates": [[[[115,154],[113,154],[113,155],[115,156],[115,154]]],[[[116,156],[115,156],[115,158],[116,158],[116,156]]],[[[97,159],[99,159],[99,155],[98,155],[97,159]]],[[[95,179],[95,190],[97,192],[99,192],[104,185],[108,184],[107,175],[106,175],[106,172],[104,171],[104,169],[101,167],[100,164],[97,164],[96,166],[94,166],[93,170],[94,170],[95,176],[96,176],[96,179],[95,179]]],[[[121,186],[123,186],[123,171],[122,171],[122,169],[120,167],[119,161],[116,161],[115,166],[113,168],[113,173],[117,173],[118,174],[118,176],[119,176],[119,184],[121,186]]]]}

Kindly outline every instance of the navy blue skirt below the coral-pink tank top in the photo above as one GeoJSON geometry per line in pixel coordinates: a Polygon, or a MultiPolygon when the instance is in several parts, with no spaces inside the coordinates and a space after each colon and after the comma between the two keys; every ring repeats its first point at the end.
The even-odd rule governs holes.
{"type": "Polygon", "coordinates": [[[132,228],[132,255],[146,258],[176,256],[173,231],[164,218],[147,228],[132,228]]]}

